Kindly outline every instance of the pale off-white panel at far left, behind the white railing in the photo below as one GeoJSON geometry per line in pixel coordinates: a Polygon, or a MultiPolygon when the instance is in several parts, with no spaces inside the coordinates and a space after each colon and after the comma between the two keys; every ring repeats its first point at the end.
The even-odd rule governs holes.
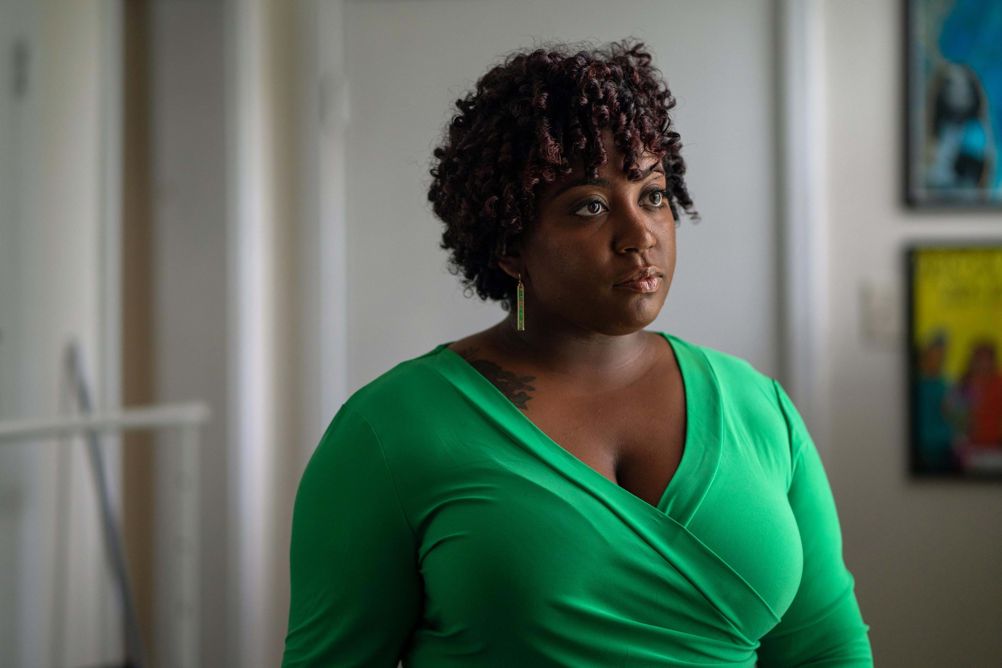
{"type": "MultiPolygon", "coordinates": [[[[3,26],[0,226],[5,255],[16,261],[16,277],[5,284],[0,303],[4,355],[15,361],[4,365],[0,378],[5,418],[52,416],[65,408],[60,381],[70,340],[81,346],[98,405],[109,387],[101,252],[108,9],[104,0],[4,4],[3,17],[13,12],[15,19],[3,26]],[[29,65],[25,93],[11,100],[6,75],[15,35],[29,44],[29,65]]],[[[109,614],[115,594],[82,444],[0,449],[0,627],[16,634],[0,632],[0,664],[62,667],[120,659],[109,614]]]]}

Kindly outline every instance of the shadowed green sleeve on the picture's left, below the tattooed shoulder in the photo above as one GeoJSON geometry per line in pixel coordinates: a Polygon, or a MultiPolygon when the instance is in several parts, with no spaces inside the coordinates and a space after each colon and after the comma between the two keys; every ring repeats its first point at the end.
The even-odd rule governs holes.
{"type": "Polygon", "coordinates": [[[379,437],[342,406],[296,495],[283,667],[396,667],[420,614],[415,551],[379,437]]]}

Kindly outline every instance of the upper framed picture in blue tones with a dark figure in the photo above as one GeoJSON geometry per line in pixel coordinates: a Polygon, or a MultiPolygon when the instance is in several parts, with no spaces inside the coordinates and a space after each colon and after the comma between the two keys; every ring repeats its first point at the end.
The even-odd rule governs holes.
{"type": "Polygon", "coordinates": [[[906,198],[1002,208],[1002,2],[906,3],[906,198]]]}

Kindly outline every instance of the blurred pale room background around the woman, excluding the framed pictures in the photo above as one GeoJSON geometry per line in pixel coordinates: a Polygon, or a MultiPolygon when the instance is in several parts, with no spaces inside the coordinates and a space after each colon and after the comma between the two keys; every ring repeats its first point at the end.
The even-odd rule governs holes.
{"type": "Polygon", "coordinates": [[[450,105],[515,48],[627,36],[678,98],[702,216],[650,328],[788,388],[877,665],[1002,665],[1002,489],[909,473],[902,260],[1000,240],[1002,211],[905,203],[906,18],[901,0],[0,0],[0,665],[123,665],[136,637],[144,665],[279,665],[292,502],[328,423],[503,315],[438,247],[450,105]]]}

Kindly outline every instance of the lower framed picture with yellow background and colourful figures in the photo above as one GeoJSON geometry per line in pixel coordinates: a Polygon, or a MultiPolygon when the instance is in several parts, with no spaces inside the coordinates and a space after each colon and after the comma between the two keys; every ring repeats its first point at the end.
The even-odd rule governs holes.
{"type": "Polygon", "coordinates": [[[912,472],[1002,479],[1002,241],[906,257],[912,472]]]}

